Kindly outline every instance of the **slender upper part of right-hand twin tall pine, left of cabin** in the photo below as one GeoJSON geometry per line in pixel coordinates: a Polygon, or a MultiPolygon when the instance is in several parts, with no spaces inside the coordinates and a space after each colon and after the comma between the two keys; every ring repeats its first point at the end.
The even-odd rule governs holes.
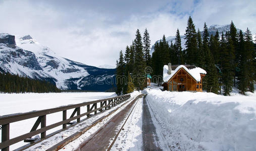
{"type": "Polygon", "coordinates": [[[149,33],[147,32],[147,29],[145,29],[145,32],[143,35],[143,53],[144,53],[144,60],[145,60],[147,66],[150,66],[150,64],[151,64],[150,39],[149,38],[150,38],[149,33]]]}

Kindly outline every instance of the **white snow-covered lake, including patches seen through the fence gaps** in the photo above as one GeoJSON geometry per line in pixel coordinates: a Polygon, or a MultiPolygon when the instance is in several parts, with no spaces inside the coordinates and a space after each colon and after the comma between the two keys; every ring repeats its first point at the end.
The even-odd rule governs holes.
{"type": "MultiPolygon", "coordinates": [[[[0,94],[0,116],[14,113],[30,112],[33,110],[49,109],[69,104],[94,101],[103,98],[115,97],[115,93],[85,92],[85,93],[26,93],[26,94],[0,94]]],[[[86,107],[81,108],[81,113],[86,111],[86,107]]],[[[67,110],[69,117],[73,109],[67,110]]],[[[10,138],[28,133],[37,118],[10,123],[10,138]]],[[[50,125],[62,120],[62,112],[46,115],[46,125],[50,125]]],[[[46,132],[52,133],[61,129],[56,127],[46,132]]],[[[0,133],[1,137],[2,133],[0,133]]],[[[16,149],[27,143],[19,142],[10,147],[16,149]]]]}

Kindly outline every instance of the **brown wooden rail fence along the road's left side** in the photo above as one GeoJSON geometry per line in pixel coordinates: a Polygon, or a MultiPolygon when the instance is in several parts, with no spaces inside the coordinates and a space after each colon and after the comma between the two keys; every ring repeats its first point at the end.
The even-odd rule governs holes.
{"type": "Polygon", "coordinates": [[[89,118],[91,115],[90,113],[94,113],[95,115],[97,114],[97,111],[103,112],[103,109],[107,110],[108,108],[111,108],[111,106],[115,106],[117,104],[120,104],[121,102],[128,100],[130,97],[130,94],[128,94],[74,105],[61,106],[57,108],[0,116],[0,125],[2,127],[2,142],[0,143],[0,149],[2,149],[2,151],[9,150],[10,145],[22,140],[24,140],[24,142],[32,142],[35,139],[31,137],[35,136],[36,134],[41,134],[40,139],[44,139],[46,138],[46,131],[49,129],[55,128],[60,125],[62,125],[63,129],[66,129],[67,124],[74,124],[71,121],[77,120],[77,123],[79,123],[81,117],[86,116],[87,118],[89,118]],[[97,107],[97,103],[100,103],[100,106],[97,107]],[[87,112],[81,114],[80,108],[85,106],[87,107],[87,112]],[[74,111],[71,114],[70,118],[67,118],[67,110],[69,109],[74,109],[74,111]],[[62,121],[46,126],[46,115],[56,112],[62,112],[62,121]],[[37,117],[37,120],[32,126],[30,132],[10,139],[10,123],[34,117],[37,117]],[[41,128],[37,129],[39,125],[41,126],[41,128]]]}

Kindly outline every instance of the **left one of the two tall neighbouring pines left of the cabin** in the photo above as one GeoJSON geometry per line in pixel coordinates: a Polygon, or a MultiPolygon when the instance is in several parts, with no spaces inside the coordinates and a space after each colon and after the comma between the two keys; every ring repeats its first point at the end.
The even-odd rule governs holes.
{"type": "Polygon", "coordinates": [[[138,90],[142,90],[144,86],[145,81],[145,61],[143,59],[143,46],[142,46],[142,38],[140,35],[139,30],[136,31],[136,38],[134,40],[134,70],[133,75],[135,75],[135,79],[133,80],[134,86],[138,88],[138,90]],[[144,81],[143,81],[144,80],[144,81]]]}

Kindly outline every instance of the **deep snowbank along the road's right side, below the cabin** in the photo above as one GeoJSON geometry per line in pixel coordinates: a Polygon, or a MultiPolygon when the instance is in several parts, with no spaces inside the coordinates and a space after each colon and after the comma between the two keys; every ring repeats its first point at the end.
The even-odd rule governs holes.
{"type": "Polygon", "coordinates": [[[172,150],[255,150],[256,95],[149,89],[147,102],[163,148],[172,150]],[[160,133],[160,134],[159,134],[160,133]]]}

